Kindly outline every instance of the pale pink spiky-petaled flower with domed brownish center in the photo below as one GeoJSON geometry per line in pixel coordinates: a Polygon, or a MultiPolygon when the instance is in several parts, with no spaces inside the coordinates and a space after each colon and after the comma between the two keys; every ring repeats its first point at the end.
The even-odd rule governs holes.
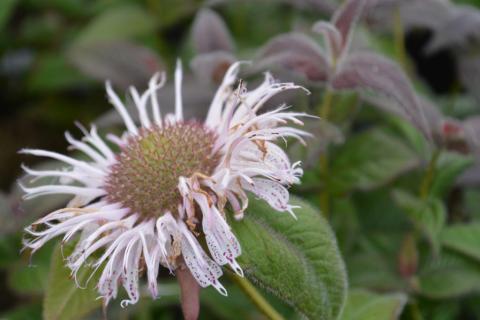
{"type": "Polygon", "coordinates": [[[77,285],[82,266],[91,266],[92,275],[103,266],[98,292],[105,304],[116,297],[119,283],[129,297],[122,307],[136,303],[141,270],[145,270],[155,298],[159,265],[173,272],[182,259],[200,286],[211,285],[227,295],[218,281],[220,266],[229,265],[240,276],[243,271],[236,262],[240,244],[226,221],[225,207],[229,205],[235,218],[241,219],[249,191],[272,208],[294,216],[285,186],[298,183],[303,172],[300,163],[291,164],[273,141],[286,137],[303,141],[308,135],[285,125],[288,121],[301,125],[298,118],[305,116],[303,113],[286,112],[281,106],[258,114],[272,96],[301,87],[277,83],[267,73],[253,91],[247,91],[241,81],[234,88],[239,66],[237,62],[227,71],[203,123],[183,118],[178,63],[174,114],[162,118],[157,101],[164,74],[153,76],[141,95],[130,89],[140,126],[107,82],[109,100],[127,129],[121,136],[108,134],[104,140],[95,126],[89,131],[81,127],[81,140],[67,132],[71,148],[88,160],[22,150],[68,165],[53,171],[24,167],[36,179],[58,178],[55,184],[22,186],[26,199],[49,194],[74,196],[66,208],[26,228],[25,248],[33,253],[56,236],[63,235],[64,243],[80,234],[66,263],[77,285]],[[200,237],[205,238],[210,255],[200,245],[200,237]]]}

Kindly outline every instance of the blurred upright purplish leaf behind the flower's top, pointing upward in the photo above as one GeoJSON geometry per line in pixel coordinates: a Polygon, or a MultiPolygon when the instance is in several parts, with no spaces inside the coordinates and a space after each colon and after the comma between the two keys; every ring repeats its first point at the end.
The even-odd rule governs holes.
{"type": "Polygon", "coordinates": [[[198,12],[193,22],[192,37],[197,53],[234,50],[233,40],[225,22],[210,9],[198,12]]]}

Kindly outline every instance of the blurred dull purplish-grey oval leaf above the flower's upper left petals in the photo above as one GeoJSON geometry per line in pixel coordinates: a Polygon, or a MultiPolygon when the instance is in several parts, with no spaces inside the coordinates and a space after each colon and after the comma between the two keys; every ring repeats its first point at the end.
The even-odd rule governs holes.
{"type": "Polygon", "coordinates": [[[111,80],[123,89],[145,86],[155,72],[164,69],[155,52],[129,41],[73,47],[68,57],[86,75],[102,82],[111,80]]]}

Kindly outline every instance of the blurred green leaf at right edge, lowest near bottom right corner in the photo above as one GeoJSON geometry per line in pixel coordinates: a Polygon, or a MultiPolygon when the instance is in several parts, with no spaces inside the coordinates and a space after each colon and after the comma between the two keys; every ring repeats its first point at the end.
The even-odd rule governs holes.
{"type": "Polygon", "coordinates": [[[445,251],[422,268],[418,278],[420,294],[432,299],[458,297],[480,289],[480,265],[445,251]]]}

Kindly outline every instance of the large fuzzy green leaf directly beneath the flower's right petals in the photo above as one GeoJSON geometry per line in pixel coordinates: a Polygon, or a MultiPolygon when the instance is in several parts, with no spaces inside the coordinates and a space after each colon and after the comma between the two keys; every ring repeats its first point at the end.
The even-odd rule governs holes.
{"type": "Polygon", "coordinates": [[[321,214],[292,197],[298,220],[251,199],[245,219],[232,221],[246,276],[309,319],[336,319],[347,291],[335,236],[321,214]]]}

